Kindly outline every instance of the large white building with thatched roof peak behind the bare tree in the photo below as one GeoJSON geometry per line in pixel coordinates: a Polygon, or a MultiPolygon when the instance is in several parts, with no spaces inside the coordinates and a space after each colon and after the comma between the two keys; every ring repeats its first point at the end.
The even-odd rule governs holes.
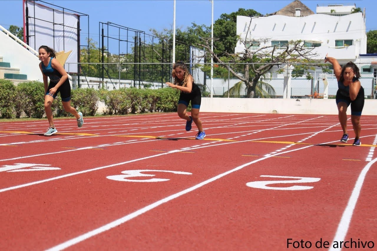
{"type": "MultiPolygon", "coordinates": [[[[317,6],[317,14],[310,14],[305,5],[295,0],[266,17],[237,16],[237,34],[250,41],[252,49],[302,40],[305,47],[314,48],[312,52],[317,54],[314,59],[322,60],[328,53],[340,63],[355,61],[360,54],[366,54],[366,27],[365,12],[351,14],[354,8],[317,6]]],[[[234,49],[236,53],[244,50],[241,41],[234,49]]]]}

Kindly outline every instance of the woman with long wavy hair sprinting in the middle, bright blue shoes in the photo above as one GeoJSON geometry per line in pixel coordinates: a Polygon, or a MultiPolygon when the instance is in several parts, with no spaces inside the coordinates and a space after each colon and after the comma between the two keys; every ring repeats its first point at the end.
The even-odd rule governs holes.
{"type": "Polygon", "coordinates": [[[178,61],[173,65],[172,76],[174,83],[166,82],[172,88],[181,90],[178,101],[178,116],[186,119],[186,131],[191,130],[192,122],[198,127],[198,134],[196,139],[204,139],[205,132],[202,127],[202,121],[199,119],[199,109],[201,104],[202,95],[199,87],[194,83],[194,79],[187,70],[186,65],[182,61],[178,61]],[[191,101],[191,116],[187,114],[187,106],[191,101]]]}

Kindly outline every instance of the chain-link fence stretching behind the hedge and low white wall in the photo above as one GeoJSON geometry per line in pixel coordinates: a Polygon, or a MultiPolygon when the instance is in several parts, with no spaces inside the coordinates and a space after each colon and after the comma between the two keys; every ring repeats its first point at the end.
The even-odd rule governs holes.
{"type": "MultiPolygon", "coordinates": [[[[335,98],[338,85],[330,64],[275,64],[269,72],[254,77],[253,67],[262,64],[247,64],[248,87],[243,81],[246,64],[213,64],[213,79],[210,79],[210,63],[190,64],[187,67],[203,96],[254,97],[254,98],[335,98]],[[299,66],[296,70],[294,66],[299,66]],[[305,70],[303,70],[305,68],[305,70]],[[238,77],[234,75],[236,73],[238,77]],[[253,82],[254,80],[254,82],[253,82]],[[251,95],[250,92],[253,92],[251,95]]],[[[158,89],[172,81],[171,63],[80,63],[80,73],[70,72],[77,64],[66,64],[72,76],[73,88],[120,89],[138,87],[158,89]]],[[[365,89],[366,98],[376,98],[376,70],[370,64],[357,64],[359,79],[365,89]]]]}

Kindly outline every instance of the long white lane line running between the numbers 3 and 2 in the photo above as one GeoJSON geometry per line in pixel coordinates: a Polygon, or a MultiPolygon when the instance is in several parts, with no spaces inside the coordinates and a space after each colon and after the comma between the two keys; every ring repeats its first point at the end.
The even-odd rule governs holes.
{"type": "MultiPolygon", "coordinates": [[[[231,144],[231,143],[234,143],[234,142],[229,142],[229,143],[224,143],[224,144],[231,144]]],[[[324,143],[324,144],[329,144],[329,143],[330,142],[324,143]]],[[[209,184],[209,183],[211,183],[213,181],[216,181],[216,180],[218,180],[218,179],[220,179],[220,178],[222,178],[222,177],[224,177],[224,176],[226,176],[228,174],[231,174],[231,173],[233,173],[235,171],[241,170],[242,168],[247,167],[248,165],[254,164],[256,162],[262,161],[264,159],[267,159],[267,158],[270,158],[270,157],[273,157],[273,156],[276,156],[276,155],[280,155],[280,154],[284,154],[284,153],[289,153],[289,152],[294,152],[294,151],[302,150],[302,149],[305,149],[305,148],[308,148],[308,147],[312,147],[312,146],[313,145],[307,145],[305,147],[301,147],[301,148],[289,150],[289,151],[282,152],[282,153],[277,153],[275,155],[271,155],[271,156],[268,156],[268,157],[263,157],[263,158],[256,159],[254,161],[248,162],[246,164],[240,165],[240,166],[238,166],[236,168],[233,168],[232,170],[226,171],[225,173],[218,174],[215,177],[212,177],[210,179],[207,179],[206,181],[203,181],[203,182],[201,182],[201,183],[199,183],[197,185],[194,185],[193,187],[187,188],[187,189],[182,190],[182,191],[180,191],[178,193],[172,194],[172,195],[170,195],[168,197],[165,197],[165,198],[163,198],[161,200],[158,200],[158,201],[156,201],[156,202],[154,202],[154,203],[152,203],[150,205],[147,205],[146,207],[140,208],[139,210],[136,210],[133,213],[127,214],[126,216],[123,216],[123,217],[121,217],[121,218],[119,218],[117,220],[114,220],[113,222],[107,223],[106,225],[103,225],[102,227],[96,228],[96,229],[94,229],[92,231],[89,231],[89,232],[87,232],[85,234],[77,236],[77,237],[75,237],[73,239],[67,240],[66,242],[60,243],[60,244],[58,244],[58,245],[56,245],[56,246],[54,246],[52,248],[47,249],[47,251],[58,251],[58,250],[62,250],[62,249],[68,248],[70,246],[73,246],[73,245],[75,245],[75,244],[77,244],[79,242],[82,242],[83,240],[89,239],[90,237],[96,236],[97,234],[100,234],[100,233],[103,233],[103,232],[105,232],[107,230],[115,228],[115,227],[117,227],[117,226],[119,226],[119,225],[121,225],[121,224],[123,224],[123,223],[125,223],[125,222],[127,222],[127,221],[129,221],[129,220],[131,220],[131,219],[133,219],[133,218],[135,218],[135,217],[143,214],[143,213],[146,213],[147,211],[152,210],[153,208],[158,207],[159,205],[162,205],[162,204],[164,204],[166,202],[169,202],[170,200],[176,199],[176,198],[178,198],[178,197],[180,197],[180,196],[182,196],[182,195],[184,195],[186,193],[189,193],[189,192],[194,191],[194,190],[196,190],[196,189],[198,189],[200,187],[203,187],[204,185],[207,185],[207,184],[209,184]]],[[[201,148],[201,147],[198,147],[198,148],[201,148]]],[[[161,153],[160,155],[164,155],[164,154],[166,154],[166,153],[161,153]]]]}

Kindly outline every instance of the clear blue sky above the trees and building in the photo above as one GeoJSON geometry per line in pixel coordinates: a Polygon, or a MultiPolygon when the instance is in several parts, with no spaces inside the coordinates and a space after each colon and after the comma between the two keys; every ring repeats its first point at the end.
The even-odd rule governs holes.
{"type": "MultiPolygon", "coordinates": [[[[173,26],[173,0],[45,0],[53,5],[89,15],[89,37],[98,40],[99,22],[111,22],[152,34],[150,29],[162,31],[173,26]]],[[[292,0],[214,0],[213,20],[223,13],[239,8],[254,9],[269,14],[291,3],[292,0]]],[[[354,5],[366,9],[366,29],[377,30],[375,0],[302,0],[314,13],[316,6],[329,4],[354,5]]],[[[211,25],[209,0],[176,0],[176,28],[185,30],[192,23],[211,25]]],[[[0,25],[23,26],[22,0],[0,0],[0,25]]],[[[87,18],[81,18],[82,36],[87,33],[87,18]]]]}

